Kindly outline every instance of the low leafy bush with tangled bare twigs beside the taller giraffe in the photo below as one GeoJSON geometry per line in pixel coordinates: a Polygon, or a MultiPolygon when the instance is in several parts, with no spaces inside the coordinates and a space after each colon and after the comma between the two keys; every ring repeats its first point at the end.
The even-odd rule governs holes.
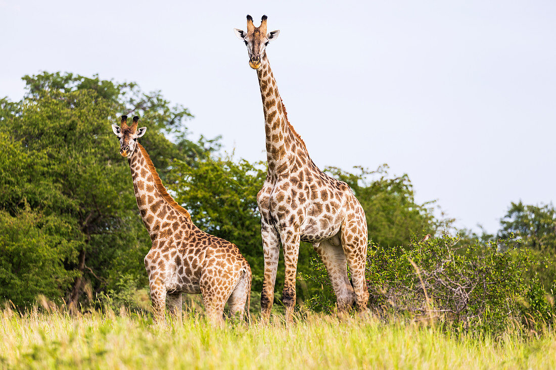
{"type": "MultiPolygon", "coordinates": [[[[495,243],[458,247],[449,236],[413,240],[407,247],[371,243],[366,279],[369,304],[380,316],[441,322],[466,332],[502,332],[510,327],[539,331],[554,322],[554,287],[539,281],[544,261],[528,249],[498,252],[495,243]]],[[[317,311],[334,309],[334,293],[321,263],[304,276],[323,291],[307,304],[317,311]]]]}

